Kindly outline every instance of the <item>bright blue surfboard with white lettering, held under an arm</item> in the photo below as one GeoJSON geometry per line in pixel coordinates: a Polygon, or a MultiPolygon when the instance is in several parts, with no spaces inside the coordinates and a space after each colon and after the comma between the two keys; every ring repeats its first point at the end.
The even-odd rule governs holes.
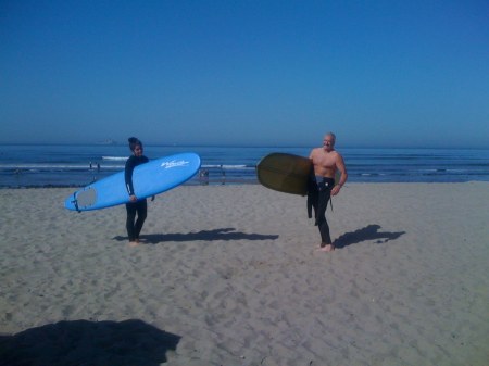
{"type": "MultiPolygon", "coordinates": [[[[181,153],[152,160],[135,167],[133,184],[138,199],[145,199],[175,188],[200,168],[200,156],[181,153]]],[[[73,211],[90,211],[129,202],[124,171],[95,181],[70,195],[64,206],[73,211]]]]}

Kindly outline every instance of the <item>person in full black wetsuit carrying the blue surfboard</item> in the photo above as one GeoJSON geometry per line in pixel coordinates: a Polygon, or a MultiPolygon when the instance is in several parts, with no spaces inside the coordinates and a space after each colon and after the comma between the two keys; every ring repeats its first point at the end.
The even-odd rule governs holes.
{"type": "Polygon", "coordinates": [[[129,203],[126,203],[126,228],[127,235],[129,237],[129,245],[136,247],[139,244],[139,234],[141,232],[142,225],[145,224],[148,214],[148,202],[146,199],[139,200],[135,194],[135,188],[133,185],[133,172],[136,166],[148,163],[149,160],[142,154],[142,142],[137,138],[129,138],[129,149],[130,151],[133,151],[133,155],[130,155],[127,160],[124,171],[126,189],[127,193],[129,194],[130,201],[129,203]],[[137,219],[136,214],[138,216],[137,219]]]}

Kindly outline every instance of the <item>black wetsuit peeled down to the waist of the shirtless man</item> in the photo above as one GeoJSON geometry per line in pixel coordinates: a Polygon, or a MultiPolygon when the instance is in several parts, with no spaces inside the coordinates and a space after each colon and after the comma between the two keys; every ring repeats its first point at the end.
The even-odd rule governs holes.
{"type": "Polygon", "coordinates": [[[331,244],[329,226],[326,220],[326,207],[331,198],[331,189],[335,187],[335,179],[321,176],[312,176],[308,192],[308,212],[311,217],[311,206],[314,209],[314,217],[319,228],[322,245],[331,244]]]}

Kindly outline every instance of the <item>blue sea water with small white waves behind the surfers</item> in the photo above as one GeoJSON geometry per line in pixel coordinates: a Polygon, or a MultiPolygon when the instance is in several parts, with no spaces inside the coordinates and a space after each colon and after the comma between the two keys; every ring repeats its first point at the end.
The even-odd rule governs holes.
{"type": "MultiPolygon", "coordinates": [[[[199,184],[256,184],[255,165],[271,152],[309,156],[306,148],[146,146],[149,159],[196,152],[208,177],[199,184]]],[[[350,182],[489,181],[489,150],[338,149],[350,182]]],[[[127,146],[0,146],[0,187],[77,187],[124,169],[127,146]],[[91,163],[91,167],[90,167],[91,163]]]]}

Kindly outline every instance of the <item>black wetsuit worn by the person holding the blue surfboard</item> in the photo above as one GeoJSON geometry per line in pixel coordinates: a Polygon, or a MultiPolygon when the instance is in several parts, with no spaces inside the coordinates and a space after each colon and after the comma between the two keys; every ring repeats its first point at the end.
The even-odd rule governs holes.
{"type": "MultiPolygon", "coordinates": [[[[133,186],[133,171],[136,166],[140,164],[148,163],[149,160],[146,156],[135,156],[130,155],[126,162],[125,168],[125,180],[126,180],[126,189],[129,195],[134,195],[134,186],[133,186]]],[[[136,202],[126,203],[127,210],[127,220],[126,228],[127,235],[129,237],[129,241],[135,241],[139,239],[139,232],[141,232],[142,225],[145,224],[146,216],[148,215],[148,203],[147,200],[138,200],[136,202]],[[136,219],[136,213],[138,215],[138,219],[136,219]]]]}

